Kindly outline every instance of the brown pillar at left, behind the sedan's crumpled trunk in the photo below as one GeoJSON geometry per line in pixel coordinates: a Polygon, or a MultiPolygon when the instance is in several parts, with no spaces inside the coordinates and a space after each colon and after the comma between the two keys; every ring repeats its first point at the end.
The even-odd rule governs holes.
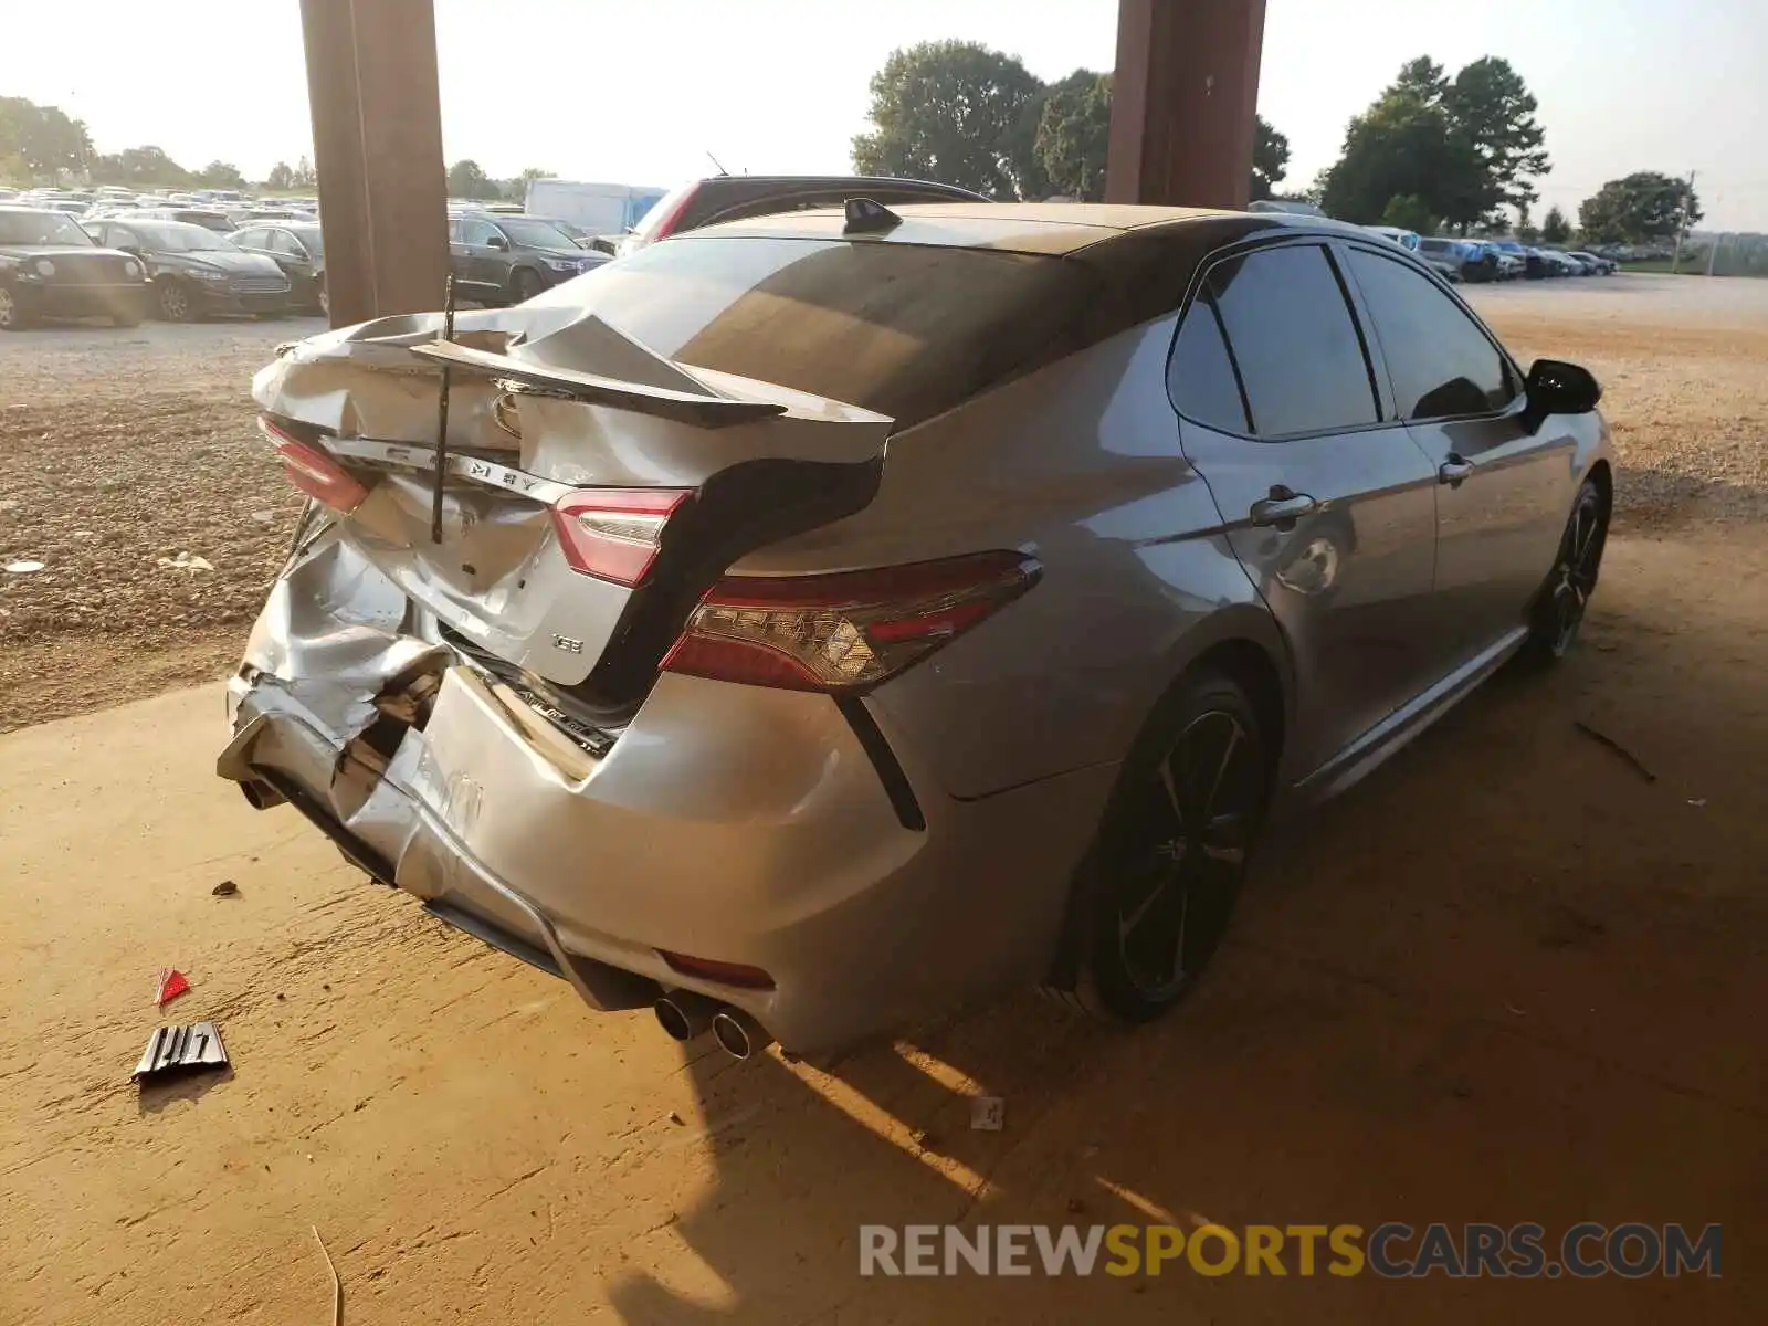
{"type": "Polygon", "coordinates": [[[433,0],[301,0],[301,27],[332,325],[442,308],[433,0]]]}

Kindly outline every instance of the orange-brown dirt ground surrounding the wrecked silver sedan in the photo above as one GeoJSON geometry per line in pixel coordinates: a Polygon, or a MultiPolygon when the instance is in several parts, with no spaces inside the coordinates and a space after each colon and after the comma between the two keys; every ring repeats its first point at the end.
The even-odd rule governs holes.
{"type": "MultiPolygon", "coordinates": [[[[94,357],[88,412],[115,410],[110,446],[152,463],[113,467],[32,414],[37,446],[80,454],[74,477],[179,479],[140,509],[76,490],[78,511],[141,514],[108,522],[131,541],[104,550],[149,564],[133,601],[156,617],[136,626],[152,668],[120,668],[97,628],[48,629],[58,599],[0,598],[0,628],[50,619],[23,644],[0,629],[12,721],[81,711],[0,737],[0,1322],[329,1321],[313,1227],[352,1326],[1768,1321],[1768,283],[1475,297],[1524,357],[1607,385],[1623,507],[1575,656],[1501,675],[1269,843],[1209,978],[1163,1022],[1101,1031],[1010,997],[827,1070],[591,1015],[364,884],[292,812],[214,780],[212,684],[104,711],[230,656],[166,645],[242,629],[274,539],[235,562],[196,530],[219,541],[283,500],[272,472],[237,506],[210,492],[156,520],[202,467],[171,433],[120,437],[127,401],[207,419],[186,446],[239,467],[258,444],[226,355],[249,368],[244,341],[278,338],[147,347],[200,357],[214,414],[138,355],[94,357]],[[216,573],[163,571],[166,548],[216,573]],[[239,896],[212,896],[221,879],[239,896]],[[226,1078],[127,1082],[161,965],[194,983],[179,1018],[221,1022],[226,1078]],[[1002,1132],[969,1128],[974,1094],[1006,1100],[1002,1132]],[[1724,1278],[857,1276],[861,1223],[1149,1220],[1722,1222],[1724,1278]]],[[[21,474],[11,423],[51,380],[48,336],[0,345],[0,483],[32,502],[67,492],[21,474]]],[[[67,336],[87,357],[88,332],[67,336]]],[[[0,523],[7,559],[90,543],[27,520],[27,539],[0,523]]],[[[87,575],[57,594],[113,592],[87,575]]]]}

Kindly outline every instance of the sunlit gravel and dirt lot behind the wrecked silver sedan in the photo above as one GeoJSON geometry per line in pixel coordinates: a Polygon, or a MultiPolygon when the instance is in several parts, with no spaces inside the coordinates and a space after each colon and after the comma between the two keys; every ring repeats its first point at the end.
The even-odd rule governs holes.
{"type": "MultiPolygon", "coordinates": [[[[1768,516],[1768,281],[1618,276],[1475,286],[1524,359],[1602,378],[1619,529],[1768,516]]],[[[0,730],[226,670],[301,502],[248,384],[311,318],[0,341],[0,730]],[[168,566],[200,557],[212,569],[168,566]],[[163,560],[164,559],[164,560],[163,560]]],[[[1768,537],[1750,530],[1749,537],[1768,537]]]]}

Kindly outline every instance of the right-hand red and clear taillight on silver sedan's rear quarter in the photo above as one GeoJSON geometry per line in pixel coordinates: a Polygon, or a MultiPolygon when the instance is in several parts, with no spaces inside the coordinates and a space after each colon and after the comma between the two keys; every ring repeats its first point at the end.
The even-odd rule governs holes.
{"type": "Polygon", "coordinates": [[[1038,582],[1038,562],[988,552],[817,576],[730,578],[688,617],[667,672],[852,693],[964,635],[1038,582]]]}

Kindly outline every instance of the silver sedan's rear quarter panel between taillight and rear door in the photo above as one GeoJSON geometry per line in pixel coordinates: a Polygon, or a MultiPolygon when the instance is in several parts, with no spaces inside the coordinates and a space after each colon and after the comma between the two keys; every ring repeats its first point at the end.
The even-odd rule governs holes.
{"type": "Polygon", "coordinates": [[[744,575],[1022,548],[1024,598],[868,704],[955,797],[1123,758],[1149,709],[1211,644],[1282,644],[1179,449],[1165,364],[1176,318],[893,437],[877,499],[764,548],[744,575]]]}

